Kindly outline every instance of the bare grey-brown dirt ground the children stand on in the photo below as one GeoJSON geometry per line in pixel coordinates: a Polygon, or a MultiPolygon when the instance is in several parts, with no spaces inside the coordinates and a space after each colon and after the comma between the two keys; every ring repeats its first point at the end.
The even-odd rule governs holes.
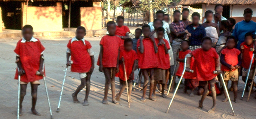
{"type": "MultiPolygon", "coordinates": [[[[15,74],[15,53],[13,52],[16,43],[20,38],[0,39],[0,115],[1,119],[15,119],[17,110],[17,80],[14,80],[15,74]]],[[[120,104],[109,105],[102,104],[103,90],[105,78],[103,73],[98,71],[98,66],[95,65],[95,70],[91,77],[91,92],[89,95],[89,106],[82,104],[74,104],[71,98],[76,87],[80,84],[77,73],[70,72],[68,69],[66,82],[60,106],[60,112],[56,113],[58,106],[60,90],[63,82],[65,63],[66,63],[66,44],[70,38],[39,38],[42,44],[46,47],[44,52],[46,66],[46,81],[52,106],[54,119],[255,119],[256,118],[256,99],[255,93],[251,95],[250,101],[240,101],[234,103],[234,111],[237,116],[233,117],[229,103],[223,103],[224,96],[217,96],[217,109],[215,113],[207,113],[207,110],[212,107],[212,97],[207,97],[204,101],[204,108],[198,109],[198,101],[200,96],[189,97],[188,94],[182,92],[182,88],[178,90],[174,102],[169,110],[165,113],[171,100],[172,94],[168,98],[161,98],[158,94],[157,101],[153,102],[149,99],[146,102],[141,102],[140,97],[142,91],[136,89],[132,92],[132,103],[128,108],[127,93],[124,91],[121,96],[120,104]]],[[[95,64],[99,54],[99,37],[86,37],[92,44],[92,49],[95,52],[95,64]]],[[[137,71],[135,72],[137,75],[137,71]]],[[[177,79],[178,80],[178,79],[177,79]]],[[[36,109],[42,115],[32,115],[31,109],[31,88],[28,86],[27,94],[23,101],[23,115],[20,119],[49,119],[50,113],[47,103],[43,80],[38,87],[38,100],[36,109]]],[[[116,87],[118,87],[118,79],[116,78],[116,87]]],[[[239,81],[240,99],[242,86],[244,82],[239,81]]],[[[79,93],[78,99],[82,102],[85,97],[85,88],[79,93]]],[[[119,91],[117,88],[116,93],[119,91]]],[[[189,91],[190,92],[190,91],[189,91]]],[[[229,92],[231,100],[233,100],[233,92],[229,92]]],[[[148,95],[148,92],[147,92],[148,95]]],[[[247,99],[248,93],[245,93],[244,100],[247,99]]],[[[111,102],[111,91],[109,91],[108,101],[111,102]]]]}

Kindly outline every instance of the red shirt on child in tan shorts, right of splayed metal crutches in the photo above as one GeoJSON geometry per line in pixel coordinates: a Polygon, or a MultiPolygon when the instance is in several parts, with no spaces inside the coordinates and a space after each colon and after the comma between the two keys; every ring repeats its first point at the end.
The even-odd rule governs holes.
{"type": "MultiPolygon", "coordinates": [[[[228,63],[232,66],[235,66],[235,65],[238,64],[238,55],[240,54],[240,51],[238,49],[236,49],[236,48],[233,48],[233,49],[225,48],[220,53],[225,55],[224,60],[225,60],[226,63],[228,63]]],[[[222,71],[231,71],[230,68],[228,68],[224,65],[222,65],[221,70],[222,71]]]]}

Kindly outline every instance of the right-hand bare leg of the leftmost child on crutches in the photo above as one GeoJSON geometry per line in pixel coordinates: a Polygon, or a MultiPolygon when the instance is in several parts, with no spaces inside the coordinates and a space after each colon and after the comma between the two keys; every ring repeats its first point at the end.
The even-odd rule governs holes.
{"type": "Polygon", "coordinates": [[[38,84],[31,84],[31,96],[32,96],[31,111],[34,115],[41,116],[41,114],[36,111],[37,87],[38,87],[38,84]]]}

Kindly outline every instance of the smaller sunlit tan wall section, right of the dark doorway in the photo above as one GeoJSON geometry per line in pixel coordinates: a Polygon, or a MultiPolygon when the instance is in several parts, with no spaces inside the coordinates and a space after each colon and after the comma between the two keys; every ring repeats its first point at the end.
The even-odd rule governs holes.
{"type": "Polygon", "coordinates": [[[80,7],[80,11],[81,26],[84,26],[86,30],[101,29],[101,7],[80,7]]]}

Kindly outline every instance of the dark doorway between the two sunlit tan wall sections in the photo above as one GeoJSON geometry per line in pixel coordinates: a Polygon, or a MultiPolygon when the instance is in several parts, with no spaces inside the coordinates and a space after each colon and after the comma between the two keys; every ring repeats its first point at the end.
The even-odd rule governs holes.
{"type": "MultiPolygon", "coordinates": [[[[93,2],[89,1],[74,1],[71,2],[70,13],[70,27],[76,28],[81,25],[80,7],[92,7],[93,2]]],[[[68,15],[69,15],[69,2],[62,3],[62,26],[68,27],[68,15]]]]}

